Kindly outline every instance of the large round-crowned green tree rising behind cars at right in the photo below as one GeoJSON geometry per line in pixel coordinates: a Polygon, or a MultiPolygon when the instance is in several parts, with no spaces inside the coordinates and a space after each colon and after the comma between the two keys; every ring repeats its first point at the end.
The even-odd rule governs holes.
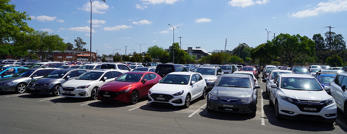
{"type": "Polygon", "coordinates": [[[315,51],[315,42],[307,36],[279,34],[273,40],[274,51],[282,62],[288,62],[291,67],[301,55],[312,56],[315,51]]]}

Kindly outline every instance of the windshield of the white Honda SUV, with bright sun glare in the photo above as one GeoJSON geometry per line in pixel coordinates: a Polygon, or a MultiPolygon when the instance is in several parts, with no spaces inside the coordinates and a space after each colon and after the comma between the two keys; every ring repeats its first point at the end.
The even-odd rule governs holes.
{"type": "Polygon", "coordinates": [[[281,88],[289,90],[321,91],[315,78],[282,77],[281,88]]]}

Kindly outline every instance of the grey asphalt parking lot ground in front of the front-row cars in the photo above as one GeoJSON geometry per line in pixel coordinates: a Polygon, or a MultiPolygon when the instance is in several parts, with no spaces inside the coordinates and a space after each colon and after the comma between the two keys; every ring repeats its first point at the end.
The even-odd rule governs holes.
{"type": "Polygon", "coordinates": [[[257,114],[207,112],[206,100],[189,108],[101,102],[85,98],[0,92],[0,132],[11,133],[332,133],[347,132],[344,114],[331,125],[307,120],[276,120],[260,81],[257,114]],[[264,97],[262,97],[263,95],[264,97]]]}

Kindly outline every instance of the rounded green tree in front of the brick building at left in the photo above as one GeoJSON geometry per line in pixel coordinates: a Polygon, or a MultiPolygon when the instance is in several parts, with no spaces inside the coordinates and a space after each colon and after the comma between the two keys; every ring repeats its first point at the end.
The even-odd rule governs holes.
{"type": "Polygon", "coordinates": [[[30,50],[42,55],[41,61],[45,60],[49,53],[56,50],[64,52],[67,47],[59,35],[49,35],[48,32],[42,31],[36,31],[27,36],[25,43],[30,50]]]}

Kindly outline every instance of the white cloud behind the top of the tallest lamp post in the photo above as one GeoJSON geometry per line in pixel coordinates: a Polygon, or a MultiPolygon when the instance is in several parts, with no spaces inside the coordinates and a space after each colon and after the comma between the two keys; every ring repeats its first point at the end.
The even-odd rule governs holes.
{"type": "MultiPolygon", "coordinates": [[[[99,1],[93,1],[92,6],[93,6],[92,12],[98,13],[98,14],[104,14],[104,13],[106,13],[106,11],[103,11],[103,10],[108,10],[110,8],[104,2],[99,2],[99,1]]],[[[85,3],[82,8],[78,8],[78,9],[82,9],[84,11],[89,12],[90,11],[90,2],[85,3]]]]}

